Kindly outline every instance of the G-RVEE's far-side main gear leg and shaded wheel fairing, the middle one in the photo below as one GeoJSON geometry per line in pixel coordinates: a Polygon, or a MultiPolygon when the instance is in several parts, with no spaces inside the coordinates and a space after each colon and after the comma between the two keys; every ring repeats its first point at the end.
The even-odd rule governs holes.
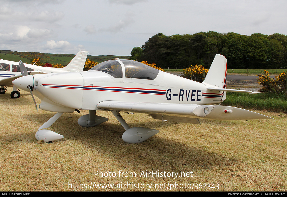
{"type": "Polygon", "coordinates": [[[79,117],[78,124],[82,127],[93,127],[105,121],[108,121],[108,118],[97,116],[96,110],[90,110],[90,114],[79,117]]]}

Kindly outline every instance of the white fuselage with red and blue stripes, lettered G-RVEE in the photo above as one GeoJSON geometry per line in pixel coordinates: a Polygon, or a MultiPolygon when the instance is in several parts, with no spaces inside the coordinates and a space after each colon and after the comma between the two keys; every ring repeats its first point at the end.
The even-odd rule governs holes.
{"type": "Polygon", "coordinates": [[[34,76],[34,80],[33,94],[42,100],[39,108],[47,111],[58,112],[58,107],[67,108],[68,111],[63,112],[101,110],[97,104],[109,100],[181,104],[222,102],[222,92],[209,91],[202,83],[165,72],[159,72],[154,80],[113,78],[101,71],[42,74],[34,76]],[[48,103],[58,107],[54,109],[48,103]]]}

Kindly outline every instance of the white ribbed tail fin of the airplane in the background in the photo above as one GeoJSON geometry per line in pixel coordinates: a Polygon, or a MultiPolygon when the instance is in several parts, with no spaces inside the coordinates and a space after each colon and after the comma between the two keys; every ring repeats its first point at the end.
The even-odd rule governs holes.
{"type": "Polygon", "coordinates": [[[72,59],[72,61],[62,69],[70,72],[70,71],[83,71],[86,59],[88,56],[88,51],[79,51],[77,55],[72,59]]]}

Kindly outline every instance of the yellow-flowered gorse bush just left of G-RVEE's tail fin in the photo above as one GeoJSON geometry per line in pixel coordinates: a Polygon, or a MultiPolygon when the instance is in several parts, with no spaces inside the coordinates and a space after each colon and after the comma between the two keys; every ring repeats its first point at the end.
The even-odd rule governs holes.
{"type": "Polygon", "coordinates": [[[204,81],[203,72],[205,71],[205,76],[208,73],[208,69],[205,69],[202,65],[189,66],[187,69],[183,69],[183,77],[191,79],[198,82],[204,81]]]}

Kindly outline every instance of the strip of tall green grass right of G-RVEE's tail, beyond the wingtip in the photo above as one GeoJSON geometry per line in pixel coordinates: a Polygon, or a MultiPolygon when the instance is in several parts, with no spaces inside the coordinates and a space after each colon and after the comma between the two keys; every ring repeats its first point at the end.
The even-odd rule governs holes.
{"type": "Polygon", "coordinates": [[[227,92],[226,100],[222,105],[287,113],[287,97],[284,94],[227,92]]]}

